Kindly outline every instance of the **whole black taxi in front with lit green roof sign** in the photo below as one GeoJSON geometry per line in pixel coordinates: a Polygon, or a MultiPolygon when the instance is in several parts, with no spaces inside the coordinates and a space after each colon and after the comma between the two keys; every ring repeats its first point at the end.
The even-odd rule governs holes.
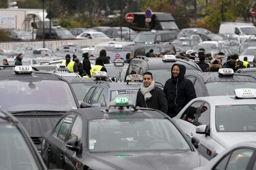
{"type": "Polygon", "coordinates": [[[48,168],[186,170],[200,166],[200,155],[171,118],[150,108],[137,110],[122,97],[107,108],[70,110],[45,134],[42,148],[48,168]]]}

